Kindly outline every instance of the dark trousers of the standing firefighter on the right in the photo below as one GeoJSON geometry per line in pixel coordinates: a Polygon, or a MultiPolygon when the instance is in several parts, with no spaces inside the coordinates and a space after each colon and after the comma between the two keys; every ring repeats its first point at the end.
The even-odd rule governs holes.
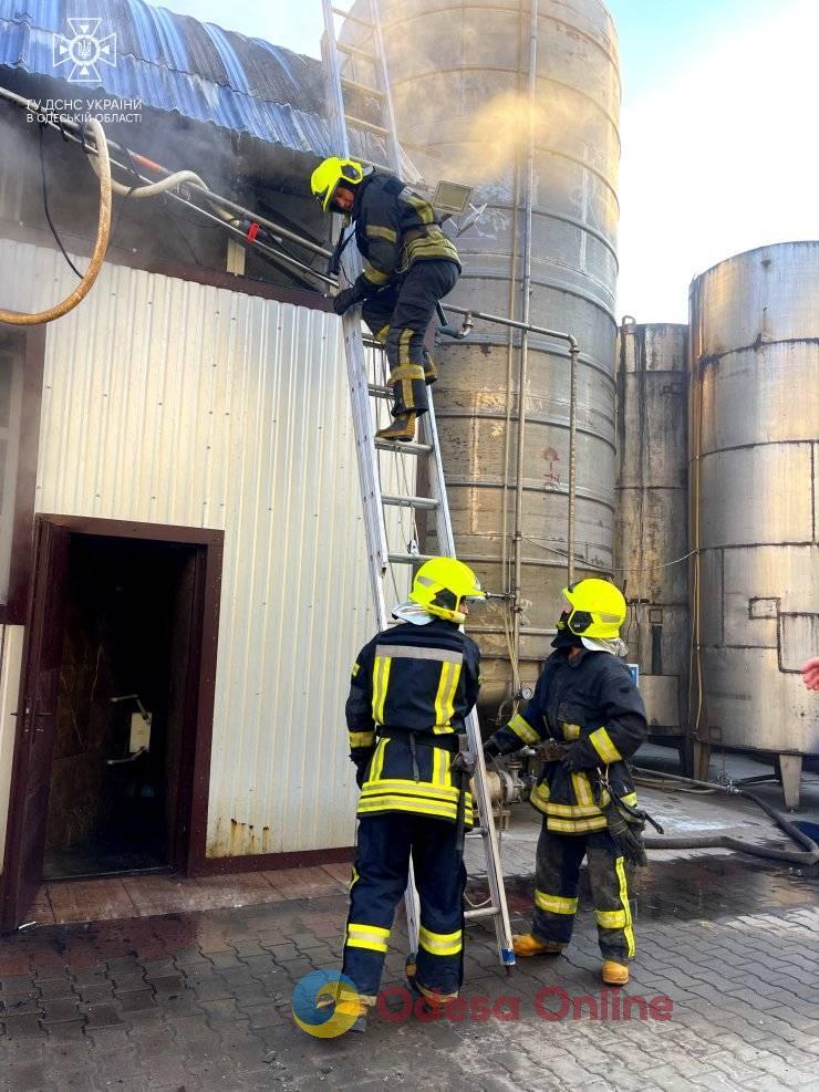
{"type": "Polygon", "coordinates": [[[634,956],[632,866],[607,830],[557,834],[546,823],[538,840],[532,935],[538,940],[569,943],[585,856],[603,959],[629,963],[634,956]]]}

